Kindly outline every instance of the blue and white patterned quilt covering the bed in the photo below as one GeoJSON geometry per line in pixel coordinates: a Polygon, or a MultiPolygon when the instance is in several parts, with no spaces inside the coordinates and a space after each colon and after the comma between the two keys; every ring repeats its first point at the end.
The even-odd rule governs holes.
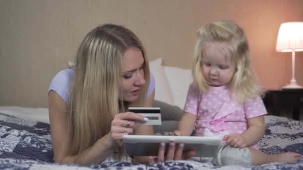
{"type": "MultiPolygon", "coordinates": [[[[289,151],[303,154],[303,121],[277,116],[265,116],[265,121],[266,133],[258,143],[261,151],[267,154],[289,151]]],[[[0,113],[0,169],[299,170],[303,169],[303,159],[298,164],[271,163],[256,167],[216,167],[209,162],[200,163],[194,161],[172,161],[153,165],[128,162],[110,162],[90,166],[59,165],[53,163],[49,124],[0,113]]]]}

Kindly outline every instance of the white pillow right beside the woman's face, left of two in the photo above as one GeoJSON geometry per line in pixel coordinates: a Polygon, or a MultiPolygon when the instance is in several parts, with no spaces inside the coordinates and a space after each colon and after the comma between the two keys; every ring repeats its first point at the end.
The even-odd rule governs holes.
{"type": "Polygon", "coordinates": [[[173,105],[171,90],[169,88],[163,67],[162,59],[150,61],[150,71],[155,81],[155,96],[154,99],[164,101],[173,105]]]}

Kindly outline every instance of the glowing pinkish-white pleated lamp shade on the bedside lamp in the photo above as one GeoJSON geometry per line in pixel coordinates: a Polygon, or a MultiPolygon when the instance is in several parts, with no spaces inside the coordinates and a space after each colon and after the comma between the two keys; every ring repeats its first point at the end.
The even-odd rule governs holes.
{"type": "Polygon", "coordinates": [[[303,51],[303,22],[281,24],[276,50],[278,52],[303,51]]]}

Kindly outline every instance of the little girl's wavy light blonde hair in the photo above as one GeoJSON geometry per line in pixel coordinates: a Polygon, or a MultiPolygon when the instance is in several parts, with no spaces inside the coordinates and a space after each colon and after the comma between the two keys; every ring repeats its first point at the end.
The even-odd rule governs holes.
{"type": "Polygon", "coordinates": [[[263,95],[263,88],[251,67],[251,56],[245,32],[231,20],[221,20],[202,26],[197,33],[194,51],[192,76],[194,83],[207,92],[208,84],[201,74],[203,51],[210,43],[226,44],[232,55],[232,62],[236,65],[236,73],[230,84],[231,94],[238,102],[248,98],[263,95]]]}

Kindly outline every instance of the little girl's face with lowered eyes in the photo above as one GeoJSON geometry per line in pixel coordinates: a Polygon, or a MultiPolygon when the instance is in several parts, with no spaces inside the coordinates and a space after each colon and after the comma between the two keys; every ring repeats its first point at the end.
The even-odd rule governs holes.
{"type": "Polygon", "coordinates": [[[236,72],[227,44],[211,43],[203,51],[202,74],[207,84],[222,86],[231,83],[236,72]]]}

